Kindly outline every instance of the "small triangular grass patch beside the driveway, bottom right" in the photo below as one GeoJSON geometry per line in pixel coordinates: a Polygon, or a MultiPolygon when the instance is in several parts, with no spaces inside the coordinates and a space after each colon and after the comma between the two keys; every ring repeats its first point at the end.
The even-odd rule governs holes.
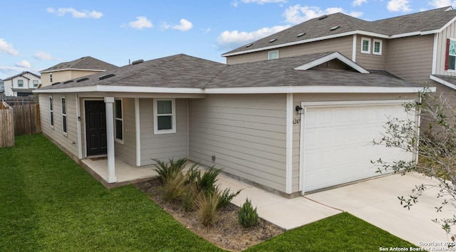
{"type": "Polygon", "coordinates": [[[288,231],[247,251],[379,251],[380,247],[389,250],[415,245],[345,212],[288,231]]]}

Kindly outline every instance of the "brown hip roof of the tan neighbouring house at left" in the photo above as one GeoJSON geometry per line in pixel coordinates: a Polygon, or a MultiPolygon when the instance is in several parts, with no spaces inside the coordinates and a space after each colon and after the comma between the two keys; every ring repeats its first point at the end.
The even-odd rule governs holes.
{"type": "Polygon", "coordinates": [[[82,69],[82,70],[110,70],[118,68],[117,65],[100,61],[98,58],[92,58],[90,56],[78,58],[74,61],[62,62],[57,65],[53,65],[50,68],[41,70],[41,72],[48,72],[54,70],[66,70],[66,69],[82,69]]]}

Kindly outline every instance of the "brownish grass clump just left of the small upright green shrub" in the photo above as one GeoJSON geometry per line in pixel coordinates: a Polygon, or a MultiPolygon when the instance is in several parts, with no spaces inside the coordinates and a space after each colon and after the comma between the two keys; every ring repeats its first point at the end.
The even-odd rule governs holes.
{"type": "Polygon", "coordinates": [[[217,205],[219,204],[219,193],[217,190],[212,194],[200,192],[195,201],[197,214],[203,226],[209,228],[214,226],[217,220],[217,205]]]}

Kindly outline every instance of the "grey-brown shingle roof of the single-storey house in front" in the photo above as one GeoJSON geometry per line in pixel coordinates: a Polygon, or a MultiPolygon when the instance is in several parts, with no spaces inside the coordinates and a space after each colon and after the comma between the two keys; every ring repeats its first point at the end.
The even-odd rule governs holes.
{"type": "Polygon", "coordinates": [[[375,87],[421,87],[385,71],[358,73],[354,70],[294,70],[294,68],[315,61],[332,52],[307,56],[280,58],[272,61],[259,61],[226,65],[185,54],[178,54],[137,65],[108,70],[88,75],[86,80],[55,83],[41,88],[73,88],[90,85],[118,85],[127,87],[160,88],[247,88],[275,86],[375,86],[375,87]],[[100,76],[111,75],[99,80],[100,76]]]}

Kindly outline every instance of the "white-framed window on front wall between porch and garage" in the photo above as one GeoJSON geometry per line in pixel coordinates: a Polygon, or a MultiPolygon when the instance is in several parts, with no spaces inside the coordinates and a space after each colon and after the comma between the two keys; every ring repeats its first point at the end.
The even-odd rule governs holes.
{"type": "Polygon", "coordinates": [[[154,134],[175,133],[175,100],[156,99],[154,104],[154,134]]]}

